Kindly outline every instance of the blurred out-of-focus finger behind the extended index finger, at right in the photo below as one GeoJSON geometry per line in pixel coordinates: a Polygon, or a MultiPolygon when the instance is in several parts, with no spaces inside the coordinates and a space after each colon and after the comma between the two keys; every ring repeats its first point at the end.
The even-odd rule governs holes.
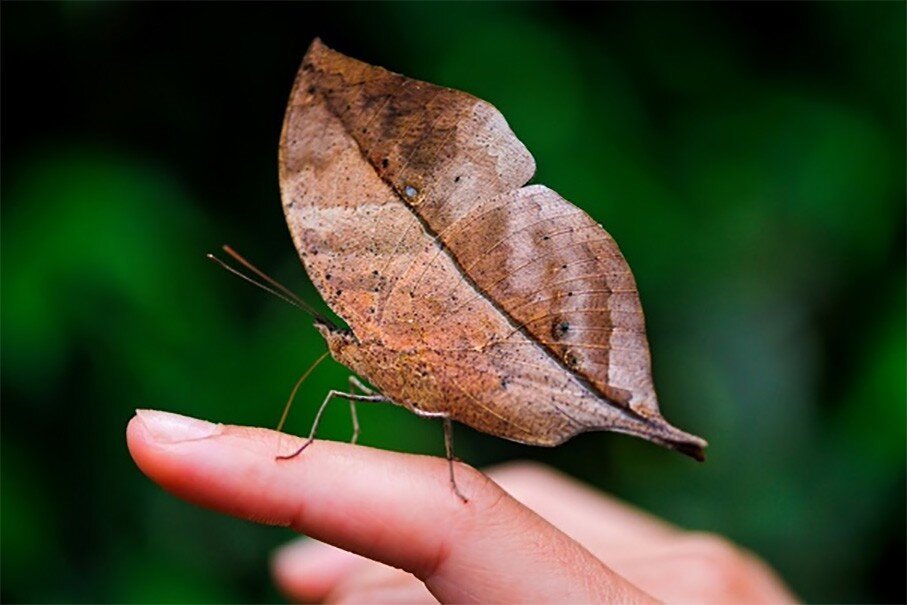
{"type": "Polygon", "coordinates": [[[682,530],[536,463],[507,463],[486,472],[516,499],[658,599],[794,601],[770,567],[719,536],[682,530]]]}

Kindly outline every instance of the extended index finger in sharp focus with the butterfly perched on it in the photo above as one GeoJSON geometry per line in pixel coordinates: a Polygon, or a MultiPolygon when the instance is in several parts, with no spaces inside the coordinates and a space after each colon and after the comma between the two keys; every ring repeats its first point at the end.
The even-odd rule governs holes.
{"type": "Polygon", "coordinates": [[[464,504],[446,462],[214,425],[142,411],[130,452],[179,497],[316,539],[414,574],[442,601],[647,601],[574,540],[474,469],[458,464],[464,504]],[[288,443],[290,442],[290,443],[288,443]]]}

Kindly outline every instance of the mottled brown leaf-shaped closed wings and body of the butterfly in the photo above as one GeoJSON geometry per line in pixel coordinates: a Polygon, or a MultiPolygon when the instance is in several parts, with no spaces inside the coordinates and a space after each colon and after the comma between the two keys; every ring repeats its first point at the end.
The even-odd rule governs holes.
{"type": "Polygon", "coordinates": [[[614,240],[532,177],[490,104],[315,41],[281,140],[294,242],[352,336],[334,356],[416,412],[553,445],[616,430],[701,456],[658,411],[614,240]]]}

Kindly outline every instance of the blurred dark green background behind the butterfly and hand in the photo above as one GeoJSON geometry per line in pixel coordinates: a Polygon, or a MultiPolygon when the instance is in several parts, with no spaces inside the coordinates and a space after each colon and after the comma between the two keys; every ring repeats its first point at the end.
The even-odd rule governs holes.
{"type": "MultiPolygon", "coordinates": [[[[325,346],[204,259],[310,301],[277,140],[318,35],[494,103],[634,269],[695,464],[587,434],[533,458],[765,557],[808,601],[903,602],[905,4],[2,6],[2,600],[277,600],[288,530],[135,468],[136,407],[274,426],[325,346]]],[[[347,372],[324,364],[288,428],[347,372]]],[[[368,406],[365,406],[368,407],[368,406]]],[[[441,427],[363,409],[368,445],[441,427]]],[[[323,435],[346,439],[346,408],[323,435]]]]}

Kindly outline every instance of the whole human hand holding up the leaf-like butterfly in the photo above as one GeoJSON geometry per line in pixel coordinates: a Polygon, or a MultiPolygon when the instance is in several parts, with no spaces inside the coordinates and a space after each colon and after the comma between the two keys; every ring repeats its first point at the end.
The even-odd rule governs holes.
{"type": "Polygon", "coordinates": [[[690,533],[542,466],[459,464],[302,440],[140,410],[127,428],[139,468],[174,495],[309,536],[273,573],[297,601],[787,603],[751,554],[690,533]]]}

